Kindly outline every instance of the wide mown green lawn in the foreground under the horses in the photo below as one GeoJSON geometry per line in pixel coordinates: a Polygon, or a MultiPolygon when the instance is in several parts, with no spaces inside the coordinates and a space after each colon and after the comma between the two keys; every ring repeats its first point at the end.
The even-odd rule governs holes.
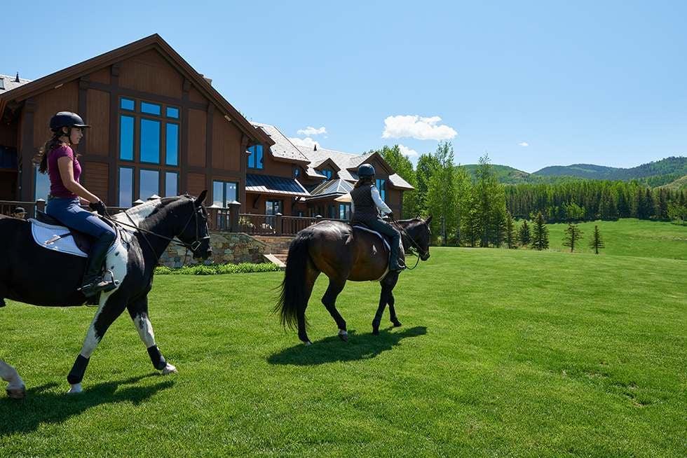
{"type": "Polygon", "coordinates": [[[687,261],[608,245],[433,248],[395,290],[401,328],[372,336],[379,286],[346,286],[347,343],[320,277],[311,347],[269,312],[281,272],[157,277],[151,319],[179,374],[154,373],[124,314],[77,396],[94,310],[10,303],[0,357],[29,396],[0,396],[0,456],[685,456],[687,261]]]}

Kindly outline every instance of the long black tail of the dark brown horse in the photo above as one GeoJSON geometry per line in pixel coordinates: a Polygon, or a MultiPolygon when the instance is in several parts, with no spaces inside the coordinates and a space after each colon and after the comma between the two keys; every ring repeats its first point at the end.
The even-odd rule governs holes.
{"type": "Polygon", "coordinates": [[[274,312],[280,315],[282,325],[290,328],[297,325],[299,308],[305,308],[305,282],[306,269],[310,260],[310,254],[308,254],[310,240],[311,231],[308,229],[301,230],[292,240],[286,259],[286,271],[280,288],[279,300],[274,307],[274,312]]]}

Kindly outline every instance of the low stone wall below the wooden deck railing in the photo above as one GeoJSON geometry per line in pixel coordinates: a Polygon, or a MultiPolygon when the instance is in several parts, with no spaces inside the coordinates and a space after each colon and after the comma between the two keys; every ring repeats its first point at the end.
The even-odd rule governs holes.
{"type": "MultiPolygon", "coordinates": [[[[238,263],[264,263],[266,244],[255,240],[244,233],[210,233],[210,246],[212,246],[212,258],[204,261],[205,264],[238,264],[238,263]]],[[[179,268],[184,265],[186,249],[175,244],[170,244],[167,251],[160,257],[160,265],[169,268],[179,268]]],[[[191,256],[189,250],[186,256],[186,265],[198,264],[191,256]]]]}

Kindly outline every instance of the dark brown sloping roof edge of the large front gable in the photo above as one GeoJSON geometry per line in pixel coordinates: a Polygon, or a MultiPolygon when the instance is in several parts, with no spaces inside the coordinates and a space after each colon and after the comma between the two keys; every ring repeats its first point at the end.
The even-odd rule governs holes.
{"type": "MultiPolygon", "coordinates": [[[[246,118],[238,112],[229,102],[222,97],[222,95],[217,92],[212,85],[201,76],[198,71],[193,69],[189,62],[186,62],[182,56],[180,56],[172,47],[162,39],[158,34],[152,34],[144,39],[134,41],[128,45],[122,46],[115,50],[111,50],[108,53],[101,54],[92,59],[85,60],[79,64],[72,65],[66,69],[60,71],[55,71],[55,73],[48,76],[43,76],[37,80],[31,81],[18,88],[2,93],[0,91],[0,106],[4,106],[6,102],[11,100],[16,100],[20,102],[33,95],[39,94],[50,88],[54,88],[55,85],[64,83],[65,81],[72,81],[80,76],[93,73],[109,65],[116,64],[122,60],[127,59],[132,55],[138,55],[147,51],[149,49],[158,50],[163,57],[165,57],[170,64],[175,67],[179,73],[184,75],[193,85],[198,89],[205,97],[215,102],[222,111],[223,115],[229,116],[231,122],[236,123],[240,130],[242,130],[248,137],[258,141],[262,144],[271,145],[273,141],[270,137],[263,131],[253,127],[246,118]]],[[[1,113],[0,113],[1,114],[1,113]]]]}

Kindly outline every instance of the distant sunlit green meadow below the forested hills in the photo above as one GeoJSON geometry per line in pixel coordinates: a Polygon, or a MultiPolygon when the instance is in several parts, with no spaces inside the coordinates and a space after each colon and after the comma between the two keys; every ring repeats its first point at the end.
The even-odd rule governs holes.
{"type": "MultiPolygon", "coordinates": [[[[579,249],[575,247],[575,252],[593,253],[589,242],[594,235],[594,225],[599,226],[601,238],[606,244],[599,254],[687,260],[687,226],[636,218],[578,224],[583,231],[583,239],[579,249]]],[[[569,247],[563,246],[563,231],[568,225],[548,224],[547,227],[550,249],[570,251],[569,247]]]]}

